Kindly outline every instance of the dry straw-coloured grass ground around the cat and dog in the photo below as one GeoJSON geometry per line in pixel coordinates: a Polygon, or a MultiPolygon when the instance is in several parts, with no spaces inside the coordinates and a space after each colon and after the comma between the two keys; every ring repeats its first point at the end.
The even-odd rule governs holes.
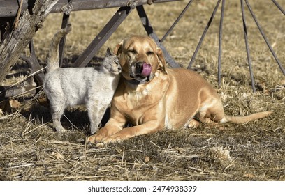
{"type": "MultiPolygon", "coordinates": [[[[159,38],[173,24],[188,1],[145,6],[159,38]]],[[[268,40],[285,64],[284,15],[272,1],[249,1],[268,40]]],[[[285,8],[285,1],[279,1],[285,8]]],[[[215,3],[193,1],[187,13],[164,40],[173,59],[187,67],[215,3]]],[[[221,5],[220,5],[221,8],[221,5]]],[[[209,81],[224,103],[226,114],[247,115],[273,110],[267,118],[243,125],[206,125],[193,129],[164,130],[121,143],[85,145],[89,134],[87,111],[68,109],[64,134],[52,129],[50,109],[43,91],[14,97],[17,109],[0,114],[0,180],[285,180],[285,77],[272,57],[246,8],[247,33],[256,93],[251,90],[244,46],[240,1],[226,1],[222,42],[222,82],[217,84],[219,17],[217,11],[192,69],[209,81]],[[67,119],[68,118],[68,119],[67,119]]],[[[117,8],[71,13],[73,31],[66,40],[64,62],[82,53],[117,8]]],[[[45,65],[61,15],[51,14],[34,38],[36,54],[45,65]]],[[[107,47],[131,34],[143,34],[136,10],[119,26],[94,56],[99,63],[107,47]]],[[[28,53],[27,51],[25,51],[28,53]]],[[[13,68],[25,67],[22,61],[13,68]]],[[[9,75],[1,85],[24,76],[9,75]],[[9,78],[9,79],[8,79],[9,78]]]]}

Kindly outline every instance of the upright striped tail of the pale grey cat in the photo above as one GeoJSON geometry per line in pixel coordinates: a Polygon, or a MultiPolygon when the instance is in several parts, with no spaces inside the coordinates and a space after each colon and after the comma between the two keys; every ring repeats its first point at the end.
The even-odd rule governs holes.
{"type": "Polygon", "coordinates": [[[71,32],[71,24],[67,24],[64,29],[60,29],[54,34],[50,43],[50,52],[47,58],[47,72],[59,68],[59,41],[63,36],[71,32]]]}

